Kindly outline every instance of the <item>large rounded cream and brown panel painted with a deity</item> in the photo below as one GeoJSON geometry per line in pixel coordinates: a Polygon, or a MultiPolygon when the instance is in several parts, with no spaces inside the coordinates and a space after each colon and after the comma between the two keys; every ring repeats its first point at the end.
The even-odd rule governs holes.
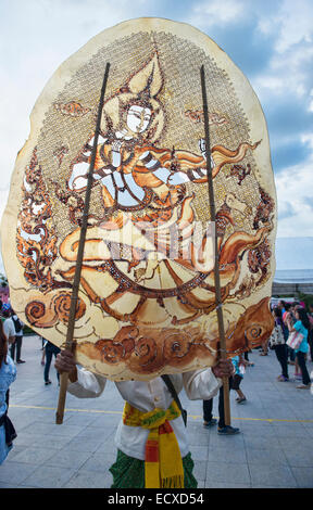
{"type": "Polygon", "coordinates": [[[212,366],[215,232],[227,354],[260,345],[273,329],[276,232],[264,116],[246,77],[208,36],[159,18],[99,34],[60,66],[34,107],[1,226],[15,311],[64,345],[108,62],[75,317],[77,362],[112,380],[212,366]]]}

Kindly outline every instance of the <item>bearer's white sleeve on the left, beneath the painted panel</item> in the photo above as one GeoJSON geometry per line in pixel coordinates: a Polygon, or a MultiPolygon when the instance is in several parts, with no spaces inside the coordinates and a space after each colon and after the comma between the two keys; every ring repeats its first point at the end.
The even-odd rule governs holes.
{"type": "Polygon", "coordinates": [[[77,367],[77,381],[68,382],[67,392],[78,398],[99,397],[104,390],[107,379],[77,367]]]}

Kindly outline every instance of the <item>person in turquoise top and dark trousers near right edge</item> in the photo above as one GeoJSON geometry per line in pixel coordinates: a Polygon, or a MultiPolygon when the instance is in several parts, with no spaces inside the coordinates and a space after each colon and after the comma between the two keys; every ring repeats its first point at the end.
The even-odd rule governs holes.
{"type": "Polygon", "coordinates": [[[309,322],[309,318],[304,308],[298,307],[296,309],[295,315],[296,315],[297,321],[293,324],[291,331],[299,331],[301,334],[303,334],[303,340],[301,344],[299,345],[298,349],[295,349],[296,359],[298,360],[299,367],[301,369],[301,374],[302,374],[302,384],[299,384],[296,387],[298,387],[299,390],[310,390],[311,379],[310,379],[306,365],[305,365],[305,354],[309,352],[308,336],[309,336],[310,322],[309,322]]]}

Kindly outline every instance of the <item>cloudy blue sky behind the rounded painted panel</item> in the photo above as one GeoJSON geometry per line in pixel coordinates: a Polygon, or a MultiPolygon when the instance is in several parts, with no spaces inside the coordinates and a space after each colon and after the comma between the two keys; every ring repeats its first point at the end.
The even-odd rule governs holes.
{"type": "Polygon", "coordinates": [[[103,29],[143,16],[193,25],[242,71],[267,123],[277,237],[312,237],[312,0],[0,0],[0,217],[32,109],[54,71],[103,29]]]}

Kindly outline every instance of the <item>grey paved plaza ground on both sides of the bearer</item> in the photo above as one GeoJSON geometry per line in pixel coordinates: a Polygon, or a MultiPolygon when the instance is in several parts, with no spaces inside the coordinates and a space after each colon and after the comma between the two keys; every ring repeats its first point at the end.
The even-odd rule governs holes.
{"type": "MultiPolygon", "coordinates": [[[[108,488],[122,398],[111,382],[100,398],[67,395],[64,422],[57,425],[57,373],[51,366],[52,384],[45,386],[40,347],[38,336],[24,339],[26,364],[17,366],[9,413],[18,437],[0,466],[0,487],[108,488]]],[[[181,397],[199,487],[313,487],[313,395],[297,390],[293,381],[276,381],[275,353],[260,357],[253,350],[249,356],[255,365],[241,383],[246,405],[230,394],[231,424],[240,434],[225,437],[216,428],[204,430],[202,403],[181,397]]],[[[313,364],[308,368],[311,372],[313,364]]],[[[293,375],[293,367],[289,373],[293,375]]],[[[217,398],[213,411],[216,416],[217,398]]]]}

